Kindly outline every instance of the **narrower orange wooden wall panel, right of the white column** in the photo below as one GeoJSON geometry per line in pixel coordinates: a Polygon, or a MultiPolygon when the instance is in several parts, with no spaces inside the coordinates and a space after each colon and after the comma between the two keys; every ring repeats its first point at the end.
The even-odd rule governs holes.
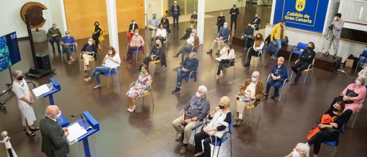
{"type": "Polygon", "coordinates": [[[135,19],[139,29],[145,27],[144,0],[116,0],[117,30],[126,32],[135,19]]]}

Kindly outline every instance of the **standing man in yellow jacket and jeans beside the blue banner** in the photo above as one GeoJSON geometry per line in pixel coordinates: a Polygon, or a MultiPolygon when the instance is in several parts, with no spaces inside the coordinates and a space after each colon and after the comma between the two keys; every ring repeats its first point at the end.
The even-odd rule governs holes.
{"type": "Polygon", "coordinates": [[[274,61],[277,61],[276,55],[278,54],[278,51],[281,48],[281,40],[286,39],[286,20],[282,19],[278,24],[276,24],[272,30],[272,33],[270,34],[270,41],[273,42],[273,40],[276,42],[276,49],[272,56],[272,59],[274,61]]]}

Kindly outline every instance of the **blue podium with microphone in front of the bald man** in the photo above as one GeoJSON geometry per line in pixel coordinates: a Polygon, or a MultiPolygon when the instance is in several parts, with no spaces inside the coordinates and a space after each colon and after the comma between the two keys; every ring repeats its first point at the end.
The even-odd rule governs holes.
{"type": "MultiPolygon", "coordinates": [[[[78,142],[83,141],[83,147],[84,147],[84,153],[86,157],[92,157],[89,143],[88,143],[88,137],[99,131],[99,123],[95,118],[88,112],[83,112],[84,118],[80,118],[79,120],[76,120],[70,125],[73,125],[75,123],[79,123],[81,127],[86,129],[87,133],[77,138],[78,142]]],[[[69,126],[70,126],[69,125],[69,126]]],[[[69,141],[70,143],[73,143],[73,141],[69,141]]],[[[98,157],[97,155],[94,155],[93,157],[98,157]]]]}

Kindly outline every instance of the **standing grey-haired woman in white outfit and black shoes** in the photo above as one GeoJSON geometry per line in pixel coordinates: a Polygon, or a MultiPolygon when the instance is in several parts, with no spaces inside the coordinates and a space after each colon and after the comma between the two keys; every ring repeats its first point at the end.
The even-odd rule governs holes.
{"type": "Polygon", "coordinates": [[[30,92],[27,82],[23,80],[22,71],[14,70],[12,73],[14,82],[12,84],[12,90],[18,99],[18,107],[22,114],[22,124],[25,126],[25,131],[28,136],[36,136],[32,131],[39,130],[40,128],[32,127],[33,121],[36,121],[33,111],[33,96],[30,92]]]}

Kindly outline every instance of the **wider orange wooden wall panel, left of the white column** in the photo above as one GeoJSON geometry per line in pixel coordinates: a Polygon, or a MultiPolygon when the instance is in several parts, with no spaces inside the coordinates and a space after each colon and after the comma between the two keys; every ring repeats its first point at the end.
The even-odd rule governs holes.
{"type": "Polygon", "coordinates": [[[108,34],[105,0],[64,0],[64,5],[68,30],[76,39],[91,37],[95,21],[108,34]]]}

